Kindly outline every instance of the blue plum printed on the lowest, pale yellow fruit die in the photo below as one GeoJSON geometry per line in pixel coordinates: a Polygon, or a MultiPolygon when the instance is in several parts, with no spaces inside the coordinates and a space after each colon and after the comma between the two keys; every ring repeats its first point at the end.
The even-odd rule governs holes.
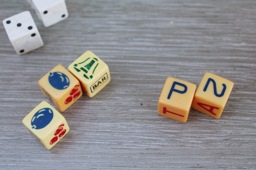
{"type": "Polygon", "coordinates": [[[50,108],[43,108],[36,112],[31,119],[32,129],[42,129],[47,126],[53,118],[53,111],[50,108]]]}

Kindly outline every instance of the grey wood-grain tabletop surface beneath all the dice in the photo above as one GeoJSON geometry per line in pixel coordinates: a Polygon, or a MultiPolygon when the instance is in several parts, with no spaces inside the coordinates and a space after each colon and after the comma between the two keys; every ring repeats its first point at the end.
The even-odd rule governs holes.
{"type": "Polygon", "coordinates": [[[256,169],[255,0],[68,0],[69,18],[44,28],[44,46],[16,55],[0,24],[0,169],[256,169]],[[62,115],[70,131],[51,150],[21,123],[41,101],[37,81],[91,50],[111,82],[62,115]],[[234,82],[220,119],[194,109],[186,123],[157,114],[167,77],[199,85],[206,71],[234,82]]]}

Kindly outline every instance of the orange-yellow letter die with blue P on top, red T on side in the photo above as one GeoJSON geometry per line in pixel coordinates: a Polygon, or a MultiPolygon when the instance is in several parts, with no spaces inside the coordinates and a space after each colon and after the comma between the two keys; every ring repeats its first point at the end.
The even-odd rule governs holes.
{"type": "Polygon", "coordinates": [[[187,122],[195,92],[195,84],[168,77],[158,100],[158,114],[187,122]]]}

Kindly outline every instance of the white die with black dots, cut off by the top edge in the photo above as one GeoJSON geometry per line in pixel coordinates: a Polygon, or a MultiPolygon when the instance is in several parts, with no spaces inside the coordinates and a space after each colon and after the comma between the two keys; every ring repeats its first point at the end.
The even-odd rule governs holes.
{"type": "Polygon", "coordinates": [[[45,27],[52,26],[68,18],[64,0],[27,0],[45,27]]]}

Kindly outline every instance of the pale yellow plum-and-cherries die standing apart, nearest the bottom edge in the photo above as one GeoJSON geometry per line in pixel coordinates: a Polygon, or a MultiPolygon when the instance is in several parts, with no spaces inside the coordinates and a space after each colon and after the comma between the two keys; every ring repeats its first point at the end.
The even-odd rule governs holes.
{"type": "Polygon", "coordinates": [[[69,131],[65,118],[46,101],[36,106],[22,123],[46,149],[51,149],[69,131]]]}

